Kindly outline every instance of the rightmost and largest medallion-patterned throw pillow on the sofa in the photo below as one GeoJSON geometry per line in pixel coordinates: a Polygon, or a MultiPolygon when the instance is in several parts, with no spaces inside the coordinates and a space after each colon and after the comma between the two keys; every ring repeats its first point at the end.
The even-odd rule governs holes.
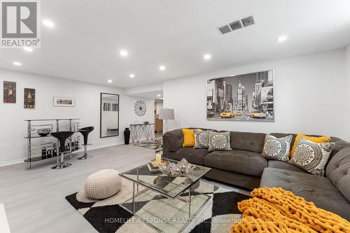
{"type": "Polygon", "coordinates": [[[293,164],[311,174],[323,176],[324,167],[335,143],[314,143],[305,138],[300,138],[297,148],[290,159],[293,164]]]}

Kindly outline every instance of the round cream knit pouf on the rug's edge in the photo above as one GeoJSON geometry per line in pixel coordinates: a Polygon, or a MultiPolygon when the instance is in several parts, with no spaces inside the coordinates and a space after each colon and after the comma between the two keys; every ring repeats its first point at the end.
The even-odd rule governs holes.
{"type": "Polygon", "coordinates": [[[122,187],[118,171],[104,169],[91,174],[84,183],[85,195],[93,199],[105,199],[116,195],[122,187]]]}

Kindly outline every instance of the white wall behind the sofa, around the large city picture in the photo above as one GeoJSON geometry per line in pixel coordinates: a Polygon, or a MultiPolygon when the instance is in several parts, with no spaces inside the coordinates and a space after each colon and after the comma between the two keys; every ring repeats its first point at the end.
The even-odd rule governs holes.
{"type": "MultiPolygon", "coordinates": [[[[339,136],[350,141],[350,108],[344,50],[280,59],[164,83],[164,105],[174,108],[169,129],[208,127],[243,132],[289,132],[339,136]],[[275,122],[207,120],[206,79],[275,70],[275,122]]],[[[214,60],[212,62],[215,62],[214,60]]]]}

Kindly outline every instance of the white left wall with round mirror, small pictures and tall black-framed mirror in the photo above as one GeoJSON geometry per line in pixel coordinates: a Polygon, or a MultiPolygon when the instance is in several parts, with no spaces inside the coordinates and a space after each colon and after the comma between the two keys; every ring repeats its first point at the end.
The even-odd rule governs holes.
{"type": "MultiPolygon", "coordinates": [[[[123,143],[123,131],[135,121],[154,121],[153,99],[129,97],[123,90],[105,85],[93,85],[62,78],[37,76],[28,73],[5,71],[0,69],[0,82],[3,80],[17,83],[17,103],[3,104],[3,91],[0,90],[0,164],[17,162],[27,156],[25,119],[33,118],[81,118],[81,127],[94,126],[89,134],[90,148],[113,146],[123,143]],[[35,109],[23,108],[24,88],[36,90],[35,109]],[[120,94],[119,136],[101,139],[99,137],[100,92],[120,94]],[[53,97],[74,97],[75,107],[55,107],[53,97]],[[134,103],[144,100],[147,112],[144,117],[134,113],[134,103]]],[[[82,138],[81,138],[82,139],[82,138]]]]}

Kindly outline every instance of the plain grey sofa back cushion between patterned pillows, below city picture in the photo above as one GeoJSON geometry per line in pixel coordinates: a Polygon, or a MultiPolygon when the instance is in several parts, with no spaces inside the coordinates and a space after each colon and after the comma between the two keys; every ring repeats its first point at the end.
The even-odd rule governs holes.
{"type": "Polygon", "coordinates": [[[266,134],[231,132],[231,148],[261,153],[266,134]]]}

